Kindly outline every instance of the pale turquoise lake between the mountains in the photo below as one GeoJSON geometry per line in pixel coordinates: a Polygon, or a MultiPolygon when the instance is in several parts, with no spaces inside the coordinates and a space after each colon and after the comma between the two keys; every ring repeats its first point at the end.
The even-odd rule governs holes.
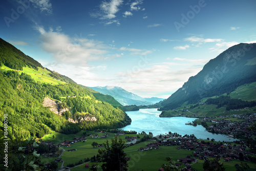
{"type": "Polygon", "coordinates": [[[132,123],[122,130],[125,131],[137,131],[141,133],[145,131],[146,134],[152,132],[154,136],[165,134],[170,131],[172,133],[178,133],[180,135],[191,135],[194,134],[198,139],[212,139],[216,141],[234,141],[235,139],[229,138],[226,135],[212,134],[205,130],[202,125],[185,125],[187,122],[192,122],[197,118],[186,118],[186,117],[164,117],[160,118],[159,114],[161,111],[157,109],[140,109],[139,111],[126,112],[127,115],[132,119],[132,123]]]}

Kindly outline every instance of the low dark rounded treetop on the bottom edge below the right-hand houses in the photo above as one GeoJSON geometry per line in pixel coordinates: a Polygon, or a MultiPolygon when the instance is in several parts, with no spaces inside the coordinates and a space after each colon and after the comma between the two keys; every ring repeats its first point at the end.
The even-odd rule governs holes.
{"type": "Polygon", "coordinates": [[[214,160],[205,160],[203,168],[205,171],[224,171],[226,168],[223,166],[223,163],[219,162],[219,158],[214,160]]]}

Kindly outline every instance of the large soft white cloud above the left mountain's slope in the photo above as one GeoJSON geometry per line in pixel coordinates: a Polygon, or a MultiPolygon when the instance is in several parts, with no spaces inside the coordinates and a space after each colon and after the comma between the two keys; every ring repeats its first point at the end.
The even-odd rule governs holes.
{"type": "Polygon", "coordinates": [[[108,47],[101,41],[81,36],[71,38],[63,33],[46,31],[40,26],[34,28],[41,34],[41,48],[52,54],[56,62],[87,66],[89,61],[102,59],[108,53],[108,47]]]}

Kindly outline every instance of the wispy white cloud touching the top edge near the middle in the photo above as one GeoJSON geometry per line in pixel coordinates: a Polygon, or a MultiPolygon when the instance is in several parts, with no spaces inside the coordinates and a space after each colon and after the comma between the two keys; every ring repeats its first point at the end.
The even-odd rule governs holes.
{"type": "Polygon", "coordinates": [[[100,4],[101,19],[113,19],[119,11],[119,6],[122,5],[122,0],[112,0],[110,2],[102,2],[100,4]]]}

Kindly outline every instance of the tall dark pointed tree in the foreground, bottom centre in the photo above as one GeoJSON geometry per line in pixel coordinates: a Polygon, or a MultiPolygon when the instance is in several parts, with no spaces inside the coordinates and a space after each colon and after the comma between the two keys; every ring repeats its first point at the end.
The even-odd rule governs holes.
{"type": "Polygon", "coordinates": [[[111,139],[111,146],[109,145],[108,140],[106,140],[103,145],[105,146],[105,149],[99,149],[98,151],[100,161],[104,162],[101,165],[102,170],[126,171],[128,164],[125,158],[126,154],[123,151],[125,148],[124,141],[122,141],[121,138],[118,140],[117,137],[115,137],[115,139],[111,139]]]}

